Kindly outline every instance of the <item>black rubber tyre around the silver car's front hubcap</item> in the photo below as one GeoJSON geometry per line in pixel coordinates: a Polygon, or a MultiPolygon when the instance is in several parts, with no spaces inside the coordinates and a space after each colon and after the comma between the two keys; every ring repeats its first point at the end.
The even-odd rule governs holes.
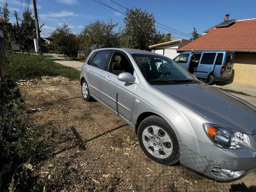
{"type": "Polygon", "coordinates": [[[163,165],[172,165],[179,161],[180,147],[179,147],[178,139],[177,139],[176,134],[174,133],[172,127],[163,118],[161,118],[159,116],[155,116],[155,115],[147,117],[140,123],[140,125],[138,127],[137,135],[138,135],[138,141],[140,143],[141,149],[153,161],[155,161],[159,164],[163,164],[163,165]],[[143,135],[142,133],[148,126],[152,126],[152,125],[160,127],[165,132],[167,132],[167,134],[170,136],[170,138],[172,140],[172,148],[173,148],[170,156],[168,156],[166,158],[157,158],[157,157],[151,155],[148,152],[148,150],[146,149],[146,147],[144,146],[143,140],[142,140],[142,135],[143,135]]]}

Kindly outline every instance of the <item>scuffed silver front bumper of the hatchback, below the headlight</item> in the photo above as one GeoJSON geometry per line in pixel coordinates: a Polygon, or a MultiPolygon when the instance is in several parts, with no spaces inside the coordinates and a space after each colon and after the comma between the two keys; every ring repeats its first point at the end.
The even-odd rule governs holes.
{"type": "Polygon", "coordinates": [[[252,135],[249,135],[251,148],[223,149],[184,133],[175,133],[180,145],[180,164],[208,179],[230,182],[243,178],[256,167],[256,141],[252,135]]]}

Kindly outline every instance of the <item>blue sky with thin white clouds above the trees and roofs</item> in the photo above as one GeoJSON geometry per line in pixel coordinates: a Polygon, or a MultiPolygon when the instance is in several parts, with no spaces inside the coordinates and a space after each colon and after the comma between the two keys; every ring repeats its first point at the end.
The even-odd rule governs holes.
{"type": "MultiPolygon", "coordinates": [[[[105,4],[125,12],[125,9],[109,0],[101,0],[105,4]]],[[[156,22],[167,27],[173,28],[183,33],[191,33],[193,27],[202,34],[208,28],[224,20],[225,14],[230,14],[229,19],[251,19],[256,18],[256,1],[202,1],[202,0],[179,0],[179,1],[157,1],[157,0],[113,0],[114,2],[128,8],[138,7],[153,13],[156,22]]],[[[7,0],[9,11],[11,12],[11,22],[15,22],[12,13],[16,10],[22,11],[26,0],[7,0]]],[[[1,4],[5,0],[0,0],[1,4]]],[[[114,10],[105,7],[93,0],[37,0],[40,23],[44,23],[42,37],[50,36],[49,33],[61,24],[67,23],[74,33],[79,33],[85,24],[94,20],[108,21],[112,18],[113,23],[124,25],[124,16],[114,10]]],[[[32,0],[30,0],[29,9],[32,9],[32,0]]],[[[33,13],[33,11],[32,11],[33,13]]],[[[166,28],[166,27],[164,27],[166,28]]],[[[157,28],[159,31],[168,33],[169,31],[157,28]]],[[[168,28],[167,28],[168,29],[168,28]]],[[[172,30],[172,29],[169,29],[172,30]]],[[[173,30],[172,30],[173,31],[173,30]]],[[[174,31],[177,32],[177,31],[174,31]]],[[[180,33],[177,32],[177,33],[180,33]]],[[[187,36],[172,33],[178,38],[189,39],[187,36]]],[[[177,38],[176,38],[177,39],[177,38]]]]}

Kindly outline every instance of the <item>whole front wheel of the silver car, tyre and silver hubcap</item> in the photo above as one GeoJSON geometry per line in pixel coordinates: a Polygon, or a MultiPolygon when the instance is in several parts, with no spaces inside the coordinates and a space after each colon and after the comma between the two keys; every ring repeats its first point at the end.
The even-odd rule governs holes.
{"type": "Polygon", "coordinates": [[[149,116],[138,127],[138,141],[153,161],[172,165],[179,161],[180,147],[172,127],[159,116],[149,116]]]}

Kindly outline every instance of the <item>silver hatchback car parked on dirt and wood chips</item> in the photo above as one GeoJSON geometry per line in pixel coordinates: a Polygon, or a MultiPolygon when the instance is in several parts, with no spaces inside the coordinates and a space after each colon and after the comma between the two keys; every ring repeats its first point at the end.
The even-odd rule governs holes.
{"type": "Polygon", "coordinates": [[[180,161],[218,182],[238,180],[256,167],[255,106],[201,83],[168,57],[97,49],[80,78],[84,100],[94,98],[131,125],[157,163],[180,161]],[[159,70],[161,64],[170,70],[159,70]]]}

